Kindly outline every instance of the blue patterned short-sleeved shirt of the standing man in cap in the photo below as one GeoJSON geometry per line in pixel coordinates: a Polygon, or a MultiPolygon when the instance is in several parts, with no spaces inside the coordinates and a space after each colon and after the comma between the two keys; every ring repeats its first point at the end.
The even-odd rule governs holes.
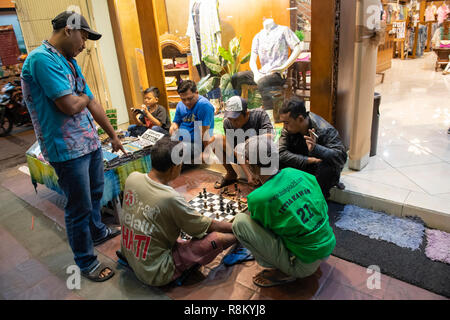
{"type": "Polygon", "coordinates": [[[75,59],[71,63],[76,75],[66,58],[44,41],[29,54],[22,68],[23,97],[42,155],[49,162],[76,159],[101,146],[87,108],[69,116],[54,102],[69,94],[84,93],[91,100],[94,98],[75,59]]]}

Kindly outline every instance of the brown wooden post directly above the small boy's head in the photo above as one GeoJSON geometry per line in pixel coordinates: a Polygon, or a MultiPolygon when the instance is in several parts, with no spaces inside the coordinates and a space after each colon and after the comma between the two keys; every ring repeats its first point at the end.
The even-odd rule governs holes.
{"type": "Polygon", "coordinates": [[[136,0],[136,9],[141,30],[148,83],[159,88],[161,92],[159,103],[169,112],[155,0],[136,0]]]}

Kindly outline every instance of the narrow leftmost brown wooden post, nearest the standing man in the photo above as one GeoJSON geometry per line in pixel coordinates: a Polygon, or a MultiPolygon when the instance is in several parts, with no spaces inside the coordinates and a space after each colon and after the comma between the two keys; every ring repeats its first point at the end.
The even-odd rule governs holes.
{"type": "Polygon", "coordinates": [[[117,16],[117,8],[114,0],[108,0],[109,18],[114,35],[114,43],[116,45],[117,59],[119,61],[120,78],[122,79],[123,93],[127,107],[128,118],[130,124],[136,123],[136,118],[131,111],[133,108],[133,97],[131,95],[131,80],[128,77],[127,61],[125,59],[125,49],[123,47],[122,33],[120,31],[119,18],[117,16]]]}

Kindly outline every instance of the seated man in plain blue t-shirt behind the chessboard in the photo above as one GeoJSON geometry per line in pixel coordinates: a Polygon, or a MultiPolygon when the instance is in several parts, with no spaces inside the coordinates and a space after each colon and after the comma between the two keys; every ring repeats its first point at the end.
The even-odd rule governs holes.
{"type": "Polygon", "coordinates": [[[192,80],[183,81],[177,92],[181,101],[169,133],[173,139],[183,141],[185,164],[191,164],[191,161],[201,164],[205,148],[214,140],[214,107],[208,99],[198,94],[197,85],[192,80]]]}

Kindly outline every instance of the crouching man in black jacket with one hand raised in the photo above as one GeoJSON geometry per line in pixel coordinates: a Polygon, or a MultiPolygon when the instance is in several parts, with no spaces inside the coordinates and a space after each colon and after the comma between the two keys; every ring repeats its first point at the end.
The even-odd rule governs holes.
{"type": "Polygon", "coordinates": [[[322,117],[307,112],[299,99],[285,101],[280,109],[284,128],[279,141],[280,167],[316,176],[325,198],[339,184],[347,152],[338,131],[322,117]]]}

